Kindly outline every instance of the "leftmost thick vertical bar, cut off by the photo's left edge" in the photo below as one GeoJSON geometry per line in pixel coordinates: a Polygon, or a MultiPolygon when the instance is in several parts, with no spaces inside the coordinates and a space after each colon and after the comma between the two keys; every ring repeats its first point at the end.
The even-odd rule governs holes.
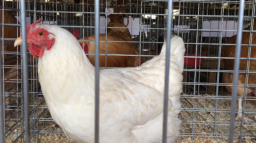
{"type": "MultiPolygon", "coordinates": [[[[3,12],[2,12],[2,17],[4,17],[4,1],[2,3],[3,6],[3,12]]],[[[4,19],[2,19],[2,25],[4,25],[4,19]]],[[[2,26],[1,28],[3,28],[2,30],[2,43],[4,43],[4,27],[2,26]]],[[[3,45],[2,45],[3,46],[3,45]]],[[[3,49],[3,47],[2,47],[3,49]]],[[[3,50],[2,50],[3,51],[3,50]]],[[[4,53],[2,52],[2,56],[4,53]]],[[[3,89],[3,57],[0,57],[0,94],[3,95],[3,97],[0,98],[0,142],[5,143],[5,114],[4,114],[4,89],[3,89]]]]}

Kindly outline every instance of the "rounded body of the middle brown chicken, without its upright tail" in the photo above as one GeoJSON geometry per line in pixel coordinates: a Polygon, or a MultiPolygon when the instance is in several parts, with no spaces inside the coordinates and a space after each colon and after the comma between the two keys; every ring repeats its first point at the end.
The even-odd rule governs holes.
{"type": "MultiPolygon", "coordinates": [[[[82,39],[81,39],[82,40],[82,39]]],[[[84,37],[84,42],[88,46],[88,54],[95,54],[95,35],[84,37]]],[[[100,41],[106,41],[106,35],[100,34],[100,41]]],[[[140,55],[139,51],[134,48],[132,42],[128,38],[107,35],[107,41],[120,42],[100,42],[100,54],[125,54],[125,55],[140,55]],[[107,46],[107,47],[106,47],[107,46]]],[[[87,56],[90,62],[95,64],[95,56],[87,56]]],[[[111,56],[100,55],[100,67],[134,67],[144,63],[143,57],[139,56],[111,56]]]]}

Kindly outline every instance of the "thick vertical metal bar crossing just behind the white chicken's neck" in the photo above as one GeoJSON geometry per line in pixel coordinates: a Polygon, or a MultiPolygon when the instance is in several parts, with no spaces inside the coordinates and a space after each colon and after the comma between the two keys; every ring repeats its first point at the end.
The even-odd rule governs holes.
{"type": "Polygon", "coordinates": [[[99,143],[100,0],[95,0],[95,143],[99,143]]]}

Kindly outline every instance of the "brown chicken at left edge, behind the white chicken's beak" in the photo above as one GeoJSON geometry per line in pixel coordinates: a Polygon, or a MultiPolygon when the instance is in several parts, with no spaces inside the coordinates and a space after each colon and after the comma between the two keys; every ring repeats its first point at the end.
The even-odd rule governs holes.
{"type": "MultiPolygon", "coordinates": [[[[0,0],[0,5],[2,2],[0,0]]],[[[0,10],[1,24],[3,20],[3,10],[0,10]]],[[[17,19],[14,17],[13,13],[10,10],[4,10],[4,24],[17,24],[17,19]]],[[[17,27],[4,26],[1,27],[1,37],[4,29],[4,38],[17,38],[17,27]]],[[[20,33],[18,31],[18,33],[20,33]]],[[[19,36],[19,35],[18,35],[19,36]]],[[[21,57],[18,52],[20,48],[14,47],[14,41],[4,40],[4,95],[5,95],[5,111],[6,114],[14,113],[10,108],[10,91],[13,87],[17,85],[17,80],[21,79],[21,69],[17,68],[17,65],[21,64],[21,57]],[[17,76],[18,75],[18,76],[17,76]]],[[[1,47],[2,49],[2,47],[1,47]]]]}

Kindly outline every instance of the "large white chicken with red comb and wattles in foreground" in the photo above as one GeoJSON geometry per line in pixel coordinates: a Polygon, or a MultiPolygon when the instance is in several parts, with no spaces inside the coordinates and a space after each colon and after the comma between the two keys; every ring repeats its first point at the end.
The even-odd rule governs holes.
{"type": "MultiPolygon", "coordinates": [[[[38,58],[42,92],[68,139],[94,142],[95,67],[67,30],[27,25],[28,50],[38,58]],[[67,41],[67,39],[69,39],[67,41]]],[[[22,43],[19,37],[14,45],[22,43]]],[[[171,39],[167,142],[179,136],[184,64],[182,38],[171,39]]],[[[166,43],[159,56],[138,67],[100,70],[100,142],[162,142],[166,43]]]]}

